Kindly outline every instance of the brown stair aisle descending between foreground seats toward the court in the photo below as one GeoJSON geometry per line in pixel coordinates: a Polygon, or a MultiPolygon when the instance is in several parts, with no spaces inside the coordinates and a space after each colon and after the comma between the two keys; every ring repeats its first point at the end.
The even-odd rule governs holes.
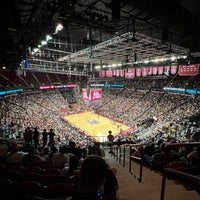
{"type": "MultiPolygon", "coordinates": [[[[132,164],[133,174],[130,174],[128,161],[123,167],[113,155],[105,151],[107,162],[117,169],[119,200],[160,200],[162,172],[143,167],[140,183],[138,163],[132,164]]],[[[180,181],[166,180],[164,200],[200,200],[200,195],[194,190],[188,191],[180,181]]]]}

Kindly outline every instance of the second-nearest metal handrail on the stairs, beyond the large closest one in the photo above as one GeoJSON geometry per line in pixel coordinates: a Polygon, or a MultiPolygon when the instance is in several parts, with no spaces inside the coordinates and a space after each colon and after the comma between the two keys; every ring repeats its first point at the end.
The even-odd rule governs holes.
{"type": "Polygon", "coordinates": [[[130,144],[130,156],[129,156],[129,173],[132,174],[131,171],[131,163],[133,160],[138,160],[140,163],[140,172],[139,172],[139,178],[138,181],[141,183],[142,182],[142,172],[143,172],[143,148],[140,148],[140,153],[141,153],[141,157],[137,157],[137,156],[131,156],[131,149],[132,147],[142,147],[142,144],[130,144]]]}

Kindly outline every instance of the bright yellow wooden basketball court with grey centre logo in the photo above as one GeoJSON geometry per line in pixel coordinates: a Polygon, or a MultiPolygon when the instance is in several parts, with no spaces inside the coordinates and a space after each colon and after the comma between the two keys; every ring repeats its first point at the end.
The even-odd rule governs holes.
{"type": "Polygon", "coordinates": [[[91,135],[97,141],[107,141],[108,131],[111,130],[115,136],[119,133],[125,133],[131,127],[122,123],[111,121],[110,119],[92,112],[83,112],[78,114],[71,114],[64,116],[63,119],[84,131],[86,134],[91,135]]]}

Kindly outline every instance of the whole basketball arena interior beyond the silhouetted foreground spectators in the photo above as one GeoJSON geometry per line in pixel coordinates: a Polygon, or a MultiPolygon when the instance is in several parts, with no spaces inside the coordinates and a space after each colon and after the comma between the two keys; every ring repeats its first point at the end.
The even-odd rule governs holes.
{"type": "MultiPolygon", "coordinates": [[[[199,199],[198,0],[8,0],[0,9],[2,199],[13,199],[13,192],[27,200],[70,199],[73,189],[62,193],[54,188],[54,194],[62,193],[54,196],[44,192],[50,182],[23,179],[29,168],[40,168],[37,173],[44,175],[47,167],[41,162],[24,167],[23,158],[11,159],[11,151],[17,148],[14,153],[26,155],[30,146],[43,159],[45,146],[60,151],[71,142],[81,152],[79,159],[100,144],[103,157],[117,171],[117,195],[104,200],[164,200],[164,195],[166,200],[199,199]],[[139,182],[131,163],[140,166],[139,182]],[[14,171],[21,173],[20,180],[14,171]],[[152,172],[161,174],[151,197],[146,177],[153,179],[152,172]],[[172,186],[165,186],[165,179],[185,187],[168,194],[164,188],[172,186]],[[130,183],[137,190],[129,191],[130,183]],[[149,190],[142,190],[141,184],[149,190]]],[[[72,154],[69,149],[66,154],[72,154]]]]}

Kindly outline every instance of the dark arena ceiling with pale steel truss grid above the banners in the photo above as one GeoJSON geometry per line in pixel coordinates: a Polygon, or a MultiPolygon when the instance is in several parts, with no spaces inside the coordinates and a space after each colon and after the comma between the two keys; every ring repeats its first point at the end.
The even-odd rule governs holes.
{"type": "Polygon", "coordinates": [[[47,35],[52,39],[29,57],[32,68],[200,56],[198,0],[7,0],[0,17],[0,63],[13,69],[47,35]]]}

